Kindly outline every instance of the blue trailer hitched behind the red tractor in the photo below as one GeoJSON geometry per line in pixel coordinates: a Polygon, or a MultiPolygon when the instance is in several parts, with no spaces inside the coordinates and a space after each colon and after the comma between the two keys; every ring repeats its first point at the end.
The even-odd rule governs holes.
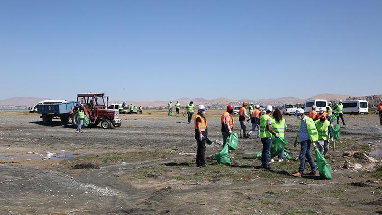
{"type": "Polygon", "coordinates": [[[40,104],[37,105],[37,113],[41,114],[44,124],[49,124],[52,119],[61,119],[61,122],[67,123],[75,106],[76,102],[40,104]]]}

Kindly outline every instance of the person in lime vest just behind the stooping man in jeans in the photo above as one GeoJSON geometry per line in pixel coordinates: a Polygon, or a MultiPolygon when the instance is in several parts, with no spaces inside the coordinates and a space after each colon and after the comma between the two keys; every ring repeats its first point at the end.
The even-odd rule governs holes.
{"type": "Polygon", "coordinates": [[[325,116],[321,116],[319,120],[316,120],[316,128],[318,131],[317,147],[322,155],[326,155],[329,150],[329,139],[333,142],[333,131],[330,126],[329,120],[326,120],[325,116]]]}

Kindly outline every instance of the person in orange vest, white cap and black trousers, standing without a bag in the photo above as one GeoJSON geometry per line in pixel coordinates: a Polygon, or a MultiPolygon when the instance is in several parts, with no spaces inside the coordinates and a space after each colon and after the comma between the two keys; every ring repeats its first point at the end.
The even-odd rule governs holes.
{"type": "Polygon", "coordinates": [[[206,141],[208,135],[207,120],[204,116],[206,114],[206,108],[203,105],[197,107],[198,113],[195,115],[195,139],[198,143],[196,151],[196,166],[206,167],[206,141]]]}

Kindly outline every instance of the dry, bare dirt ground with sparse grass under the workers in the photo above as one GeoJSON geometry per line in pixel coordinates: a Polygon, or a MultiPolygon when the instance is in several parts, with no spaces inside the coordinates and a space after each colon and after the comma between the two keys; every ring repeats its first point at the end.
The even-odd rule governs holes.
{"type": "MultiPolygon", "coordinates": [[[[222,139],[221,113],[208,110],[211,140],[222,139]]],[[[58,121],[42,125],[37,114],[1,111],[0,213],[382,214],[381,169],[343,168],[345,160],[369,169],[379,163],[342,156],[357,150],[382,159],[377,115],[345,115],[341,142],[327,157],[332,180],[290,175],[299,165],[299,148],[293,147],[297,120],[292,116],[285,118],[287,149],[294,159],[271,163],[273,171],[259,169],[258,139],[240,139],[231,152],[231,167],[213,158],[221,146],[207,146],[208,167],[198,168],[189,155],[196,152],[196,141],[186,117],[150,111],[121,118],[119,128],[75,133],[72,125],[58,121]],[[70,159],[53,155],[42,160],[47,152],[66,153],[70,159]]],[[[305,173],[309,171],[307,164],[305,173]]]]}

